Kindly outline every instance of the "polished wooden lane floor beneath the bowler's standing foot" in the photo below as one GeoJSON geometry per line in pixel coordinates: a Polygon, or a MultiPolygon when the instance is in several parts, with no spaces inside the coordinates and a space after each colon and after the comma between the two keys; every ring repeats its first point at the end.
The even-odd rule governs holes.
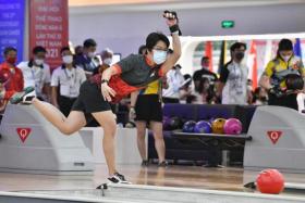
{"type": "MultiPolygon", "coordinates": [[[[129,180],[137,185],[171,186],[197,189],[244,191],[244,178],[253,180],[257,172],[243,168],[204,168],[200,166],[120,165],[119,169],[129,180]]],[[[305,183],[305,175],[285,174],[285,180],[305,183]]],[[[106,182],[107,167],[97,165],[93,176],[48,176],[0,173],[0,190],[73,190],[93,189],[106,182]]]]}

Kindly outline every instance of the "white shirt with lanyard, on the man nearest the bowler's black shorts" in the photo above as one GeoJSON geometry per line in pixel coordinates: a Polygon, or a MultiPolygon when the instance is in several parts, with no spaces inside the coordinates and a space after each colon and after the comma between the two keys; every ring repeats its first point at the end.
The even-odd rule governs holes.
{"type": "Polygon", "coordinates": [[[80,87],[86,80],[85,71],[78,66],[72,69],[56,68],[52,74],[51,86],[60,86],[60,96],[68,98],[77,98],[80,94],[80,87]]]}

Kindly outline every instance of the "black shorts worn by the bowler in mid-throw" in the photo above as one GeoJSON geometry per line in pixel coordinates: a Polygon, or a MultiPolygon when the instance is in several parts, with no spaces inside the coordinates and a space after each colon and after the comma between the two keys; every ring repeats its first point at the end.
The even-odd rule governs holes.
{"type": "Polygon", "coordinates": [[[74,102],[72,111],[84,112],[88,122],[91,113],[111,111],[111,107],[110,103],[105,101],[98,86],[86,80],[80,88],[80,96],[74,102]]]}

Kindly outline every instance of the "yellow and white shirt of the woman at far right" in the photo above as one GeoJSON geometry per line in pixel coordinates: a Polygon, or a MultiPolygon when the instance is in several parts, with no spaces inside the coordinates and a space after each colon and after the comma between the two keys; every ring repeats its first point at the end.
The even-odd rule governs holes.
{"type": "MultiPolygon", "coordinates": [[[[305,68],[300,58],[292,56],[289,62],[284,62],[282,59],[278,58],[276,60],[270,61],[264,72],[264,75],[271,78],[271,85],[274,85],[274,80],[272,81],[272,77],[274,74],[283,73],[284,71],[292,69],[292,72],[298,72],[303,76],[305,75],[305,68]]],[[[285,80],[280,80],[280,87],[285,87],[285,80]]]]}

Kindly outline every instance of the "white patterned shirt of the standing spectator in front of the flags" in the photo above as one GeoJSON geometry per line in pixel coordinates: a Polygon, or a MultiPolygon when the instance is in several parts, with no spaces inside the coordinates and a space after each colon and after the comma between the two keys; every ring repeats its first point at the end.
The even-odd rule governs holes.
{"type": "Polygon", "coordinates": [[[222,90],[222,104],[247,103],[247,75],[248,68],[235,62],[227,66],[229,76],[222,90]]]}

